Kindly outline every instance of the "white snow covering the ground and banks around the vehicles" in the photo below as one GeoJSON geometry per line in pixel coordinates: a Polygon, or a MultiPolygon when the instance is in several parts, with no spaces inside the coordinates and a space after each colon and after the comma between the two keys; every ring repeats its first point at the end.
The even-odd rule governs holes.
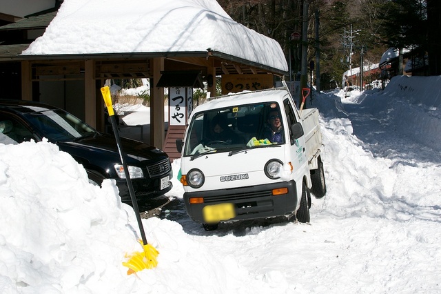
{"type": "Polygon", "coordinates": [[[205,232],[175,177],[172,205],[143,219],[158,266],[136,275],[138,226],[110,180],[91,186],[47,142],[0,144],[0,293],[441,293],[440,79],[314,98],[327,195],[310,224],[205,232]]]}

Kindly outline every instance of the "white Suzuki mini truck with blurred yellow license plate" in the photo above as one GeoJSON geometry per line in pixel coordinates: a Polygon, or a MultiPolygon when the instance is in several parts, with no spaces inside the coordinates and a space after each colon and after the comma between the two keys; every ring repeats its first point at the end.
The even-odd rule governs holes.
{"type": "Polygon", "coordinates": [[[310,190],[326,193],[318,110],[298,111],[286,86],[213,97],[194,109],[176,147],[185,208],[207,231],[261,217],[309,222],[310,190]],[[274,119],[279,142],[271,142],[274,119]]]}

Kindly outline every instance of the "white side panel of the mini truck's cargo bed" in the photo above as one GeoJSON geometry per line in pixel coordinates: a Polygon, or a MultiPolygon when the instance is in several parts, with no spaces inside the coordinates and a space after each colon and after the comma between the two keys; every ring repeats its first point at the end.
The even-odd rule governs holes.
{"type": "Polygon", "coordinates": [[[320,124],[318,123],[318,109],[303,109],[300,117],[302,119],[303,131],[305,132],[309,168],[316,169],[317,161],[313,159],[320,155],[320,148],[322,148],[322,134],[320,133],[320,124]]]}

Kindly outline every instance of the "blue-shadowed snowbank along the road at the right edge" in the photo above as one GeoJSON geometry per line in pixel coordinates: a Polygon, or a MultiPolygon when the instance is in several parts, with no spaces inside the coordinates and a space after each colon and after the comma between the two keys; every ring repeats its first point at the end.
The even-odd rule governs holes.
{"type": "Polygon", "coordinates": [[[440,84],[441,76],[393,77],[384,91],[365,91],[353,101],[402,136],[441,150],[440,84]]]}

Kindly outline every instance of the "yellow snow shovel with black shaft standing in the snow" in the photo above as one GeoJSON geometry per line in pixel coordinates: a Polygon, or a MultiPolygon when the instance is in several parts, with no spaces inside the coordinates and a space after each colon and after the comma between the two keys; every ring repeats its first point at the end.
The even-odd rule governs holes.
{"type": "Polygon", "coordinates": [[[121,157],[121,162],[124,168],[125,179],[127,181],[127,187],[129,188],[130,199],[132,200],[133,209],[135,211],[136,220],[138,221],[139,231],[141,231],[142,240],[139,240],[141,246],[143,247],[143,252],[136,252],[131,255],[127,255],[129,260],[123,262],[123,266],[127,266],[129,270],[127,275],[131,273],[136,273],[137,271],[142,271],[145,268],[154,268],[158,262],[156,257],[158,256],[158,251],[152,245],[147,244],[147,239],[145,238],[145,232],[143,228],[143,222],[141,221],[141,215],[139,214],[138,203],[136,202],[135,193],[133,190],[132,181],[130,180],[130,173],[127,168],[127,163],[125,161],[125,153],[123,151],[123,146],[121,144],[121,138],[119,137],[118,127],[116,126],[116,119],[114,116],[114,110],[112,106],[112,97],[110,97],[110,88],[105,86],[101,88],[101,94],[103,95],[105,106],[107,106],[107,112],[109,112],[110,122],[112,124],[112,130],[116,139],[116,147],[119,151],[119,156],[121,157]]]}

